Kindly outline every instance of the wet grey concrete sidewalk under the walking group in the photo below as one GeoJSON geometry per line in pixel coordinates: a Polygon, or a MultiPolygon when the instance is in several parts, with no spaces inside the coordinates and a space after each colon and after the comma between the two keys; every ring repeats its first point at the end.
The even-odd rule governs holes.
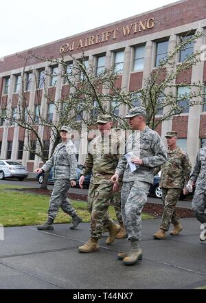
{"type": "Polygon", "coordinates": [[[52,232],[36,226],[6,227],[0,241],[0,289],[193,289],[206,285],[206,241],[198,235],[195,218],[181,220],[183,232],[167,240],[153,240],[159,220],[143,221],[143,260],[126,267],[117,260],[127,251],[127,240],[105,245],[100,251],[78,253],[89,236],[89,224],[71,230],[57,224],[52,232]]]}

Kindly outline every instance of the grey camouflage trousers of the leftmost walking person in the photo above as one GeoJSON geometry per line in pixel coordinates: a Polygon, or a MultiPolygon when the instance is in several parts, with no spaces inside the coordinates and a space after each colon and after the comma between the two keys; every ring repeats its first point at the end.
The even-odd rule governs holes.
{"type": "Polygon", "coordinates": [[[49,201],[48,217],[54,218],[58,214],[59,207],[66,212],[66,214],[76,214],[75,209],[71,205],[69,198],[67,197],[67,191],[69,190],[69,179],[54,179],[54,189],[49,201]]]}

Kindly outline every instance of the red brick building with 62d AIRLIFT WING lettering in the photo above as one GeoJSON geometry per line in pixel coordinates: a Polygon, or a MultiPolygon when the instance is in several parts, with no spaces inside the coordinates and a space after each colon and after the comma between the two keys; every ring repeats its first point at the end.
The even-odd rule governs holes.
{"type": "MultiPolygon", "coordinates": [[[[35,47],[36,54],[43,57],[53,56],[59,58],[64,54],[68,62],[69,52],[77,57],[84,54],[88,63],[95,66],[96,71],[104,67],[121,67],[119,75],[119,87],[134,91],[144,87],[146,78],[154,69],[159,58],[174,49],[180,37],[190,30],[206,31],[206,2],[205,0],[183,0],[170,5],[165,5],[157,10],[144,14],[132,16],[128,19],[111,23],[95,28],[88,32],[76,34],[52,43],[35,47]]],[[[206,45],[205,38],[201,38],[196,45],[189,45],[185,51],[176,56],[176,64],[181,62],[185,54],[190,54],[195,47],[198,49],[206,45]]],[[[22,56],[27,51],[21,52],[22,56]]],[[[41,97],[41,108],[47,112],[48,119],[55,117],[55,110],[52,104],[48,104],[44,97],[41,86],[43,71],[54,74],[58,67],[49,66],[48,63],[32,62],[34,59],[25,62],[20,56],[12,54],[0,60],[0,108],[3,111],[3,104],[10,102],[12,113],[15,115],[15,108],[19,98],[21,76],[23,72],[27,76],[27,87],[25,99],[27,106],[33,111],[38,109],[37,99],[41,97]],[[38,83],[34,81],[34,74],[38,74],[38,83]]],[[[181,74],[176,82],[206,82],[206,61],[198,63],[192,69],[181,74]]],[[[62,78],[51,76],[47,79],[48,91],[53,100],[62,97],[67,85],[62,78]],[[56,85],[54,85],[54,82],[56,85]]],[[[121,107],[119,114],[124,115],[126,108],[121,107]]],[[[194,162],[198,148],[206,144],[206,106],[198,105],[188,108],[179,117],[163,122],[159,128],[159,134],[164,137],[166,131],[171,129],[179,133],[179,146],[187,150],[190,159],[194,162]]],[[[47,130],[39,127],[39,133],[49,151],[49,139],[47,130]]],[[[31,142],[32,142],[32,138],[31,142]]],[[[0,123],[0,154],[1,159],[10,158],[21,161],[32,172],[39,165],[38,157],[23,150],[25,131],[19,126],[10,125],[1,120],[0,123]]],[[[50,146],[51,150],[51,146],[50,146]]],[[[83,157],[79,157],[82,162],[83,157]]]]}

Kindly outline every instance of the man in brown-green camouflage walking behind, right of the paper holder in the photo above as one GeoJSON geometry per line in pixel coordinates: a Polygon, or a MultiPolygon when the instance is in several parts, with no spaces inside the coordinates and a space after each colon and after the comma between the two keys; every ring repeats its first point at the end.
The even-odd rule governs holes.
{"type": "Polygon", "coordinates": [[[156,175],[161,170],[159,185],[162,188],[164,205],[159,231],[154,234],[154,238],[157,239],[165,238],[165,232],[170,228],[171,222],[174,225],[174,229],[170,234],[176,236],[181,232],[182,226],[176,216],[175,207],[191,172],[191,163],[187,153],[179,146],[176,146],[177,133],[168,131],[165,137],[168,143],[168,161],[161,168],[156,168],[154,172],[156,175]]]}

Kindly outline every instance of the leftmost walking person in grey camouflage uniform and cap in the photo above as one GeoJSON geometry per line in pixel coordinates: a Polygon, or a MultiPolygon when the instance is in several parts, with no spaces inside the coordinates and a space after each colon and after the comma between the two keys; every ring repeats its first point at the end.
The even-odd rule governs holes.
{"type": "Polygon", "coordinates": [[[71,133],[69,126],[62,126],[60,129],[62,143],[56,146],[52,157],[43,167],[36,169],[37,173],[46,172],[54,166],[54,189],[49,201],[48,218],[43,225],[37,226],[37,229],[40,230],[54,229],[53,222],[58,214],[59,207],[72,217],[71,229],[75,229],[82,222],[82,218],[76,214],[76,210],[67,197],[70,185],[76,186],[77,178],[76,148],[68,139],[69,133],[71,133]]]}

